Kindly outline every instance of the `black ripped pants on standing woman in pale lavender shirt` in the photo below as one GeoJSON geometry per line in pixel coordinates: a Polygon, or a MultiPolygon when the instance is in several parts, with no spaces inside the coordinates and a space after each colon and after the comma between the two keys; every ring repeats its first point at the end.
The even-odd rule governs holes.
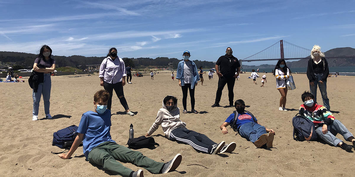
{"type": "Polygon", "coordinates": [[[125,108],[125,110],[129,109],[125,95],[123,94],[122,82],[117,82],[116,84],[104,82],[104,89],[110,93],[110,98],[107,102],[107,109],[111,110],[112,94],[114,89],[118,99],[120,99],[122,106],[125,108]]]}

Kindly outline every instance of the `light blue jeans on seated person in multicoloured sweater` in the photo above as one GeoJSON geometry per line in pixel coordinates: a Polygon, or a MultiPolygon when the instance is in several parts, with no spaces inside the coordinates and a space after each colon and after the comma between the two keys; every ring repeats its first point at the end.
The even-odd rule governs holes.
{"type": "Polygon", "coordinates": [[[328,126],[328,132],[325,135],[322,132],[321,126],[316,128],[316,133],[325,142],[328,144],[333,144],[334,146],[337,146],[340,142],[343,142],[339,138],[335,137],[338,133],[343,135],[345,141],[348,141],[348,138],[353,136],[353,134],[351,134],[349,130],[346,129],[346,127],[342,124],[342,122],[336,119],[333,121],[332,125],[328,126]]]}

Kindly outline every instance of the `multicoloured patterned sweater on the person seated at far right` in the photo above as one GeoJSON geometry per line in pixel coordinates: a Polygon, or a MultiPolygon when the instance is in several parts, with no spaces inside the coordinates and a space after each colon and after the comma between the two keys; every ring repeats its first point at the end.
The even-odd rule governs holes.
{"type": "Polygon", "coordinates": [[[334,121],[334,116],[327,110],[326,107],[314,103],[312,107],[308,107],[305,104],[300,106],[300,114],[310,119],[317,126],[318,124],[331,125],[334,121]]]}

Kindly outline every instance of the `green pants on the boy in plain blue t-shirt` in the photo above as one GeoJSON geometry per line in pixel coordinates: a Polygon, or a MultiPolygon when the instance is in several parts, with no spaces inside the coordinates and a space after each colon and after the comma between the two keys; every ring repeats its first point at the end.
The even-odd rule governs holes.
{"type": "Polygon", "coordinates": [[[120,164],[130,162],[136,166],[143,167],[153,174],[158,174],[164,163],[156,162],[147,158],[141,152],[133,151],[114,142],[104,142],[92,149],[88,155],[89,162],[101,165],[105,170],[114,175],[129,177],[132,170],[120,164]]]}

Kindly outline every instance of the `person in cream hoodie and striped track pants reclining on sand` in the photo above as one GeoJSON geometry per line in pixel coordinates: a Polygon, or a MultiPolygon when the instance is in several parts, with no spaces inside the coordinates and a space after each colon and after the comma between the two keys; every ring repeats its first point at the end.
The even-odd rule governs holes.
{"type": "Polygon", "coordinates": [[[169,140],[189,144],[198,152],[208,154],[233,152],[236,147],[235,142],[225,144],[222,141],[217,144],[206,135],[187,129],[186,123],[180,120],[180,109],[177,107],[177,102],[178,99],[171,95],[163,99],[163,108],[159,109],[157,118],[146,136],[151,136],[161,125],[169,140]]]}

